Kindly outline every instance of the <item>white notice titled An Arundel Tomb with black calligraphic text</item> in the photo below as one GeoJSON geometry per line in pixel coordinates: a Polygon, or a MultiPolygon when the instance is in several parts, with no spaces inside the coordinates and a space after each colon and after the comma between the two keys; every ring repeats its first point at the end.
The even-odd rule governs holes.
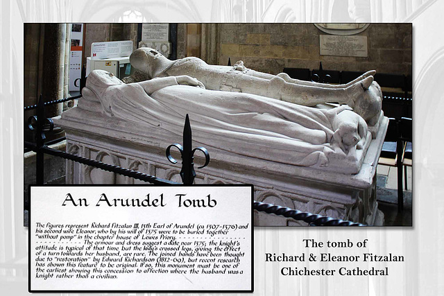
{"type": "Polygon", "coordinates": [[[252,186],[32,186],[30,292],[252,291],[252,186]]]}

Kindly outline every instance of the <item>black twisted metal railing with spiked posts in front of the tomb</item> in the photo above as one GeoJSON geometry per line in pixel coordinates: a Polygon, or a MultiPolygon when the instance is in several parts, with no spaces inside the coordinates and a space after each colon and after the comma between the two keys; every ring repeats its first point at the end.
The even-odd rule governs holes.
{"type": "MultiPolygon", "coordinates": [[[[36,180],[37,184],[44,184],[44,154],[53,155],[56,157],[61,157],[64,159],[69,159],[80,164],[85,164],[87,166],[93,166],[94,168],[99,168],[103,171],[109,171],[112,173],[118,173],[126,177],[133,177],[137,180],[142,180],[144,182],[149,182],[151,184],[180,184],[178,182],[173,182],[171,180],[165,180],[153,175],[148,175],[146,173],[141,173],[139,171],[133,171],[128,168],[122,168],[121,166],[115,166],[112,164],[105,164],[104,162],[99,162],[94,159],[89,159],[86,157],[81,157],[79,155],[74,155],[71,153],[66,153],[64,151],[56,150],[48,147],[47,143],[44,143],[45,132],[53,130],[52,119],[46,118],[44,115],[44,107],[47,105],[53,105],[58,103],[63,103],[66,101],[74,100],[80,98],[81,96],[64,98],[61,100],[50,101],[44,103],[42,96],[40,96],[39,101],[36,105],[31,105],[24,107],[24,110],[37,109],[37,115],[31,116],[28,119],[28,128],[35,132],[35,143],[28,141],[24,142],[25,148],[33,150],[36,153],[36,180]]],[[[177,148],[182,157],[182,169],[180,171],[180,177],[182,178],[183,184],[193,184],[194,178],[196,177],[196,172],[194,171],[194,153],[197,150],[205,155],[205,164],[198,168],[203,168],[207,166],[210,162],[210,154],[207,149],[203,147],[198,147],[192,149],[192,137],[191,137],[191,125],[189,123],[189,116],[187,114],[185,118],[185,125],[183,130],[183,146],[179,143],[174,143],[168,146],[166,155],[169,162],[176,164],[178,161],[171,156],[171,148],[177,148]]],[[[253,202],[253,209],[256,211],[263,211],[267,214],[275,214],[278,216],[284,216],[287,218],[292,218],[294,220],[304,221],[309,223],[309,225],[316,226],[365,226],[361,223],[354,223],[351,221],[345,221],[335,218],[330,218],[327,216],[321,216],[318,214],[311,214],[307,212],[298,211],[296,209],[290,209],[288,207],[281,207],[274,204],[267,204],[264,202],[253,202]]]]}

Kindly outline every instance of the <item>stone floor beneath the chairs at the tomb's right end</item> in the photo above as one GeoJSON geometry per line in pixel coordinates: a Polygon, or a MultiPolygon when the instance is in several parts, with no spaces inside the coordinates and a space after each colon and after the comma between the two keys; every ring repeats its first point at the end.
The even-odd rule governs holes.
{"type": "Polygon", "coordinates": [[[398,213],[398,171],[393,166],[377,166],[377,200],[384,213],[384,226],[412,226],[412,171],[407,166],[407,190],[404,177],[404,211],[398,213]]]}

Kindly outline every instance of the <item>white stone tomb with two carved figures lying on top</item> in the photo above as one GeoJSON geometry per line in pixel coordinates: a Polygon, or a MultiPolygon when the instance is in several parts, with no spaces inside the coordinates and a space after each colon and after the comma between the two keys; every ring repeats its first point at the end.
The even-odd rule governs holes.
{"type": "MultiPolygon", "coordinates": [[[[134,58],[131,63],[135,63],[134,58]]],[[[192,74],[197,79],[168,73],[171,66],[161,75],[145,70],[151,76],[148,80],[129,84],[105,71],[93,71],[78,107],[64,112],[56,121],[67,133],[67,152],[180,182],[180,166],[169,163],[165,150],[171,143],[181,141],[185,114],[189,114],[194,147],[204,146],[211,156],[209,166],[197,171],[196,183],[253,184],[257,201],[382,225],[384,217],[375,198],[375,175],[388,119],[380,110],[380,98],[379,110],[375,103],[375,110],[368,107],[368,96],[379,94],[375,82],[366,86],[361,81],[368,77],[373,81],[371,75],[355,83],[367,98],[364,103],[359,99],[349,103],[353,112],[345,105],[320,107],[316,91],[322,86],[318,84],[302,82],[302,88],[295,90],[294,81],[278,76],[257,80],[262,74],[253,71],[252,75],[243,65],[239,69],[239,63],[234,67],[208,66],[228,71],[230,82],[227,76],[216,81],[220,83],[217,90],[214,79],[204,79],[196,71],[192,74]],[[258,83],[255,92],[263,95],[246,93],[246,82],[250,88],[252,83],[258,83]],[[285,102],[289,101],[286,93],[300,94],[301,89],[302,100],[315,93],[314,103],[305,105],[316,107],[285,102]],[[368,110],[373,113],[369,115],[368,110]]],[[[202,69],[202,65],[196,69],[202,69]]],[[[140,73],[136,75],[140,77],[140,73]]],[[[343,88],[350,90],[350,85],[343,88]]],[[[325,103],[339,101],[334,96],[344,95],[344,89],[321,89],[332,93],[331,98],[325,96],[325,103]]],[[[201,160],[196,157],[195,162],[201,160]]],[[[67,162],[67,183],[135,182],[67,162]]],[[[305,223],[256,213],[255,225],[305,223]]]]}

